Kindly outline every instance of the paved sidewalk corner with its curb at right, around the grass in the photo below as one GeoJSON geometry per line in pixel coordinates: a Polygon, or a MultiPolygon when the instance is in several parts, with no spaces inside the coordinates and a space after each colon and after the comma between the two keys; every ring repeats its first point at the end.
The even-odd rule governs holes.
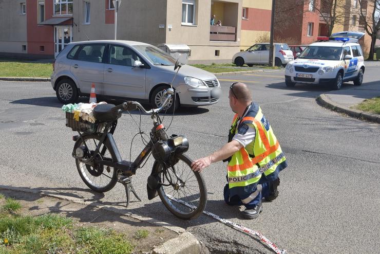
{"type": "Polygon", "coordinates": [[[365,99],[377,96],[380,96],[380,84],[370,84],[321,94],[318,96],[317,102],[333,111],[345,113],[358,119],[380,123],[380,115],[351,108],[365,99]]]}

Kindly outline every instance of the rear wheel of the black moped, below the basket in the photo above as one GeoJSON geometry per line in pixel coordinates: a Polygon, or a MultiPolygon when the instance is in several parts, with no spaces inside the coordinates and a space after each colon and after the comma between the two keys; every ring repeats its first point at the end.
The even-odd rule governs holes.
{"type": "MultiPolygon", "coordinates": [[[[86,146],[88,151],[86,151],[84,158],[90,158],[93,156],[94,151],[97,149],[100,137],[97,135],[88,135],[83,136],[84,141],[86,142],[86,146]]],[[[79,147],[83,147],[83,140],[77,143],[75,149],[79,147]]],[[[116,161],[113,158],[112,154],[109,152],[110,150],[106,146],[105,143],[102,144],[99,150],[101,153],[95,156],[99,158],[103,158],[105,160],[116,161]],[[103,148],[105,148],[104,153],[102,153],[103,148]]],[[[107,167],[104,165],[93,165],[90,166],[85,164],[81,159],[75,159],[75,163],[77,164],[77,169],[79,175],[81,176],[83,182],[92,190],[96,192],[106,192],[112,189],[117,183],[117,173],[115,168],[107,167]]]]}

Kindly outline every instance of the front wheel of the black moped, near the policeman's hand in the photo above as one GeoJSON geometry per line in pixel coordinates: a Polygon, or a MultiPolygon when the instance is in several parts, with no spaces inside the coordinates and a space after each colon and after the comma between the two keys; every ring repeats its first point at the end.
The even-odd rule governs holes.
{"type": "Polygon", "coordinates": [[[195,219],[202,214],[207,202],[207,190],[202,175],[191,168],[192,159],[184,154],[168,169],[158,164],[161,185],[158,194],[165,207],[180,219],[195,219]],[[188,205],[186,205],[188,204],[188,205]]]}

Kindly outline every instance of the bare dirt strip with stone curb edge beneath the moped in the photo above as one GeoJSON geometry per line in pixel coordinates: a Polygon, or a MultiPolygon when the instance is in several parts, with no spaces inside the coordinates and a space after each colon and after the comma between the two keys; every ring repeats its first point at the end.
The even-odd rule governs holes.
{"type": "Polygon", "coordinates": [[[112,209],[109,206],[89,203],[66,195],[4,185],[0,185],[0,194],[20,202],[23,207],[22,213],[25,215],[60,214],[70,217],[80,226],[105,227],[123,232],[135,245],[132,253],[198,254],[201,252],[200,242],[193,234],[164,222],[131,214],[127,209],[112,209]],[[147,232],[147,236],[136,238],[136,233],[142,230],[147,232]]]}

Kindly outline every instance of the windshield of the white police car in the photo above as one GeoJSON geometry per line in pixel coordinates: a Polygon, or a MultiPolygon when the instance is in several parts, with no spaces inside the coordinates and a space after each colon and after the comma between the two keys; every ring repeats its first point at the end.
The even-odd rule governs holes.
{"type": "Polygon", "coordinates": [[[298,58],[319,60],[340,60],[341,47],[309,46],[298,58]]]}

